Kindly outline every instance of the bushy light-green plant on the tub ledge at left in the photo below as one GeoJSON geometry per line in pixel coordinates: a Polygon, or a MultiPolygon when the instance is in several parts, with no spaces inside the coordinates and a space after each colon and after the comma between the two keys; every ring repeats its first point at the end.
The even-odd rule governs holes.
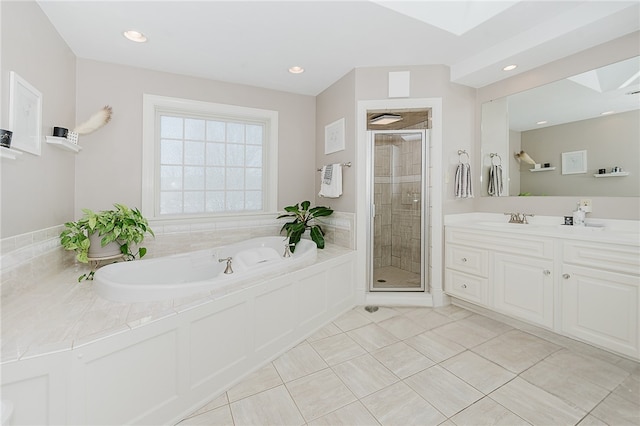
{"type": "MultiPolygon", "coordinates": [[[[83,216],[75,222],[64,224],[60,243],[66,250],[76,252],[76,259],[88,263],[92,259],[121,255],[125,260],[143,257],[145,247],[138,247],[147,233],[154,235],[147,219],[137,208],[114,204],[115,209],[94,212],[82,209],[83,216]],[[93,244],[92,244],[93,242],[93,244]],[[115,251],[96,251],[99,247],[115,246],[115,251]],[[135,252],[133,250],[136,250],[135,252]]],[[[81,276],[90,279],[89,276],[81,276]]]]}

